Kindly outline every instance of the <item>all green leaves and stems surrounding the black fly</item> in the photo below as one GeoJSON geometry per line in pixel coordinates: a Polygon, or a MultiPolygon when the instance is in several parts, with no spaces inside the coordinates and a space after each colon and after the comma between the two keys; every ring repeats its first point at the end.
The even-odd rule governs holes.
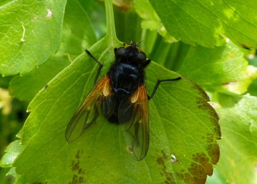
{"type": "Polygon", "coordinates": [[[204,183],[220,134],[207,96],[191,81],[220,117],[220,160],[206,183],[257,183],[257,3],[113,3],[114,17],[109,0],[106,15],[93,0],[0,2],[0,72],[7,76],[0,78],[0,183],[204,183]],[[82,142],[64,137],[96,73],[83,50],[106,71],[119,40],[143,41],[156,62],[146,70],[149,94],[157,78],[191,80],[162,84],[149,102],[151,144],[138,163],[119,129],[102,118],[82,142]]]}

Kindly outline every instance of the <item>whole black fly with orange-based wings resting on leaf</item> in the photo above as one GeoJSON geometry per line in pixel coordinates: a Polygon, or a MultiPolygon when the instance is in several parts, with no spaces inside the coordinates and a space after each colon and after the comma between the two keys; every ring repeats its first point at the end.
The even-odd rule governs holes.
{"type": "Polygon", "coordinates": [[[175,79],[158,80],[151,96],[147,95],[144,83],[144,68],[151,62],[138,48],[138,43],[115,48],[115,61],[109,71],[97,82],[102,64],[92,54],[99,68],[95,85],[80,105],[66,129],[69,143],[92,125],[101,113],[109,122],[119,124],[127,142],[127,147],[136,160],[145,157],[149,147],[148,100],[152,99],[159,84],[175,79]]]}

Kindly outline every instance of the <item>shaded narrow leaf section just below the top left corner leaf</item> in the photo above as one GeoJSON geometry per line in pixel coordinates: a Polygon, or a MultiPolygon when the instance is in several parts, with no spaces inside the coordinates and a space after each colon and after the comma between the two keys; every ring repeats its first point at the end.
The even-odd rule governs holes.
{"type": "Polygon", "coordinates": [[[10,95],[22,101],[31,101],[40,89],[48,87],[48,82],[69,64],[67,55],[52,56],[26,76],[13,78],[9,86],[10,95]]]}

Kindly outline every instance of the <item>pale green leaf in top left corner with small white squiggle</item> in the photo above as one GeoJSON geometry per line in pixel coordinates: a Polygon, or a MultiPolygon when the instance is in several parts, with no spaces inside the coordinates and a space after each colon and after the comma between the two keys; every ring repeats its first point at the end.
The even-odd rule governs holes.
{"type": "Polygon", "coordinates": [[[24,75],[57,51],[65,5],[65,0],[2,3],[0,73],[3,76],[24,75]]]}

